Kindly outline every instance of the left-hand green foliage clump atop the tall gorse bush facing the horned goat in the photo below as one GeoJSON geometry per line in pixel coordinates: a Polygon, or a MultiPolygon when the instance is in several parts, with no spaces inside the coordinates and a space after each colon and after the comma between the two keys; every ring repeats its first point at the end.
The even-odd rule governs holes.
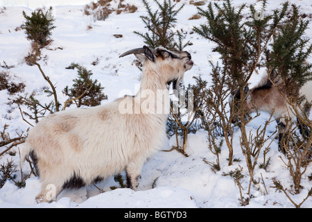
{"type": "Polygon", "coordinates": [[[224,71],[231,75],[234,83],[241,81],[243,67],[247,66],[252,53],[244,36],[243,8],[245,5],[236,10],[229,1],[223,3],[223,7],[210,2],[207,10],[198,8],[198,14],[205,17],[207,23],[193,28],[202,37],[216,43],[213,51],[220,53],[224,71]]]}

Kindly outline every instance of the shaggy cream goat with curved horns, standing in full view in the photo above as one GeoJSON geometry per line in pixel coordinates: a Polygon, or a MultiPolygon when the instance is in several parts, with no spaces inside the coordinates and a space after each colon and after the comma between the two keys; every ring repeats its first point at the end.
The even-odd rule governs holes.
{"type": "Polygon", "coordinates": [[[187,51],[163,47],[144,46],[119,57],[130,54],[143,63],[140,90],[135,96],[51,114],[29,132],[21,161],[30,155],[39,173],[42,191],[37,202],[55,200],[64,188],[92,185],[123,170],[127,186],[137,189],[144,162],[159,151],[166,138],[168,113],[159,112],[158,106],[166,105],[168,99],[163,94],[168,93],[157,96],[157,91],[168,92],[168,84],[180,81],[193,62],[187,51]],[[150,112],[153,105],[158,113],[150,112]]]}

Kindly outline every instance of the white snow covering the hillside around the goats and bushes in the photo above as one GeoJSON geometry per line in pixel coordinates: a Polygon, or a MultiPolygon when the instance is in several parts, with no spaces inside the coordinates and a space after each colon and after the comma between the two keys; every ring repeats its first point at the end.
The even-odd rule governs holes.
{"type": "MultiPolygon", "coordinates": [[[[23,82],[26,87],[24,94],[36,92],[36,98],[42,103],[48,102],[43,92],[43,87],[49,87],[42,78],[37,67],[28,66],[24,61],[25,56],[31,49],[31,44],[26,40],[24,31],[19,27],[24,21],[21,12],[24,10],[28,15],[36,7],[51,6],[55,16],[55,28],[53,30],[53,43],[49,49],[42,51],[46,55],[40,61],[42,69],[50,77],[58,90],[61,103],[66,101],[61,91],[65,86],[72,85],[73,78],[76,78],[76,70],[65,69],[76,62],[92,70],[93,79],[105,87],[104,92],[108,96],[107,101],[103,104],[114,101],[114,99],[124,94],[135,94],[136,85],[139,84],[140,71],[132,65],[133,56],[119,58],[119,55],[129,49],[141,47],[144,45],[143,40],[135,35],[133,31],[145,32],[144,24],[139,18],[140,15],[146,15],[146,10],[141,1],[125,1],[135,4],[138,7],[137,12],[133,14],[121,13],[116,15],[112,13],[105,21],[96,21],[92,17],[84,15],[83,9],[88,1],[6,1],[0,0],[0,64],[12,66],[6,70],[0,67],[0,71],[8,71],[11,79],[17,83],[23,82]],[[76,6],[73,6],[75,4],[76,6]],[[88,28],[88,27],[92,28],[88,28]],[[17,30],[15,30],[17,28],[17,30]],[[116,38],[114,34],[121,34],[123,37],[116,38]],[[92,62],[98,61],[97,65],[92,62]]],[[[189,4],[189,1],[177,16],[176,28],[183,28],[187,31],[187,40],[193,44],[185,48],[192,55],[195,62],[193,69],[187,71],[184,76],[184,83],[193,83],[193,76],[202,75],[202,78],[210,82],[209,71],[211,67],[208,60],[216,61],[218,55],[211,52],[213,44],[202,37],[191,34],[193,26],[202,24],[205,19],[189,20],[196,14],[196,7],[189,4]]],[[[220,2],[220,1],[218,1],[220,2]]],[[[221,1],[222,2],[222,1],[221,1]]],[[[241,3],[257,3],[261,1],[234,1],[236,6],[241,3]]],[[[269,13],[271,9],[281,7],[284,1],[269,1],[269,13]]],[[[309,1],[291,1],[301,6],[302,12],[311,13],[312,5],[309,1]]],[[[178,3],[178,4],[180,4],[178,3]]],[[[202,6],[202,7],[207,7],[202,6]]],[[[309,25],[311,27],[311,24],[309,25]]],[[[306,32],[307,36],[312,36],[311,28],[306,32]]],[[[251,85],[257,83],[261,78],[260,75],[252,76],[251,85]]],[[[11,137],[17,133],[26,132],[29,125],[21,119],[17,105],[8,105],[8,100],[12,96],[6,90],[0,91],[0,130],[4,124],[9,127],[6,132],[11,137]]],[[[254,119],[248,126],[248,131],[255,132],[263,121],[268,118],[268,114],[261,114],[261,117],[254,119]]],[[[268,135],[275,130],[275,124],[268,127],[268,135]]],[[[105,192],[101,192],[94,186],[85,187],[76,191],[63,191],[58,200],[53,203],[35,202],[35,196],[40,191],[40,180],[34,176],[26,180],[26,187],[18,189],[13,182],[7,181],[0,189],[0,207],[241,207],[239,187],[234,184],[234,180],[229,176],[223,176],[239,166],[243,167],[245,180],[243,181],[243,192],[247,192],[249,175],[248,168],[245,164],[245,157],[242,154],[239,144],[240,132],[234,135],[234,157],[241,162],[234,162],[232,166],[227,166],[228,150],[224,144],[220,154],[220,171],[212,171],[211,167],[203,159],[209,162],[216,161],[216,155],[211,153],[207,148],[207,133],[204,130],[198,130],[196,134],[189,134],[187,153],[189,157],[184,157],[177,151],[164,152],[159,151],[153,158],[148,160],[144,165],[138,191],[131,189],[114,189],[110,186],[118,186],[114,178],[109,178],[101,182],[97,187],[105,192]]],[[[169,150],[175,143],[175,138],[168,139],[163,149],[169,150]]],[[[0,164],[6,163],[7,160],[19,162],[18,147],[12,148],[17,155],[1,155],[0,164]]],[[[0,152],[4,148],[1,148],[0,152]]],[[[272,188],[272,178],[280,180],[284,187],[291,190],[292,179],[288,169],[282,162],[284,158],[277,151],[277,142],[270,145],[271,162],[267,171],[256,167],[254,179],[261,181],[259,186],[252,185],[252,197],[250,205],[247,207],[294,207],[293,204],[282,193],[276,192],[272,188]],[[281,156],[281,158],[279,157],[281,156]],[[262,178],[264,180],[263,185],[262,178]],[[268,191],[268,193],[265,191],[268,191]]],[[[260,164],[263,162],[263,154],[259,157],[260,164]]],[[[295,203],[300,203],[306,197],[308,189],[312,182],[308,176],[312,173],[310,166],[302,177],[302,189],[300,194],[292,195],[291,198],[295,203]]],[[[24,172],[29,171],[27,166],[24,172]]],[[[18,174],[18,173],[17,173],[18,174]]],[[[124,173],[123,173],[123,176],[124,173]]],[[[312,207],[312,198],[306,200],[302,207],[312,207]]]]}

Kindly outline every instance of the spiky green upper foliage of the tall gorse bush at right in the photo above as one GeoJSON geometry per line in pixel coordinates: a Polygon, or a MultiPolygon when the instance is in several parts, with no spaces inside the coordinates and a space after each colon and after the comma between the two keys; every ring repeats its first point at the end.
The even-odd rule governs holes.
{"type": "MultiPolygon", "coordinates": [[[[263,1],[263,8],[266,6],[267,1],[263,1]]],[[[292,5],[289,9],[286,2],[280,10],[259,18],[250,5],[250,19],[241,14],[245,8],[243,4],[235,9],[231,1],[223,6],[210,2],[207,10],[198,8],[198,14],[207,23],[193,28],[216,43],[213,51],[220,53],[223,71],[230,77],[228,84],[243,88],[259,67],[266,67],[272,77],[282,78],[286,86],[294,85],[295,80],[297,87],[302,87],[311,80],[312,65],[306,59],[311,55],[312,45],[304,37],[309,21],[300,17],[298,7],[292,5]]]]}

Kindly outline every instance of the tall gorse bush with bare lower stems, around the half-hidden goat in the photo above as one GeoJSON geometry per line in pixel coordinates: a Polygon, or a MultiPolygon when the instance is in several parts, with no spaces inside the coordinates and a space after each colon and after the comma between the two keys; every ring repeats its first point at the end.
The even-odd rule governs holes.
{"type": "MultiPolygon", "coordinates": [[[[263,1],[263,10],[267,1],[263,1]]],[[[284,99],[297,114],[299,123],[310,132],[300,137],[296,134],[297,126],[288,130],[286,139],[281,142],[286,153],[288,167],[295,185],[295,193],[300,192],[300,180],[307,166],[311,163],[312,121],[309,117],[300,115],[297,105],[300,101],[298,92],[300,87],[312,79],[311,67],[307,58],[311,56],[312,44],[304,33],[309,21],[300,16],[299,8],[285,2],[281,9],[273,10],[269,15],[258,16],[254,6],[250,6],[250,15],[245,17],[242,12],[247,6],[234,8],[227,0],[222,4],[208,4],[207,9],[198,8],[198,14],[207,19],[205,24],[196,26],[193,31],[205,39],[214,42],[213,51],[220,54],[221,65],[211,63],[213,67],[212,85],[207,91],[207,106],[202,107],[202,117],[216,119],[223,129],[223,137],[229,148],[229,165],[233,161],[233,133],[231,122],[240,117],[241,130],[240,144],[245,156],[250,183],[247,194],[250,196],[250,187],[254,183],[254,169],[259,154],[265,156],[270,151],[270,144],[264,148],[268,138],[275,137],[275,133],[266,137],[266,128],[274,119],[272,114],[264,126],[259,126],[257,133],[248,133],[246,125],[251,119],[245,119],[248,112],[245,110],[245,101],[248,96],[248,81],[252,74],[259,69],[266,69],[268,81],[286,95],[284,99]],[[227,98],[238,89],[237,101],[229,107],[227,98]],[[209,109],[206,109],[209,108],[209,109]],[[229,110],[232,113],[229,115],[229,110]],[[210,116],[209,116],[210,115],[210,116]],[[212,117],[211,117],[212,115],[212,117]]],[[[311,104],[309,104],[311,105],[311,104]]],[[[258,116],[258,115],[257,115],[258,116]]],[[[256,117],[257,117],[256,116],[256,117]]],[[[253,118],[256,118],[253,117],[253,118]]],[[[204,119],[204,122],[209,122],[204,119]]],[[[291,124],[291,123],[289,123],[291,124]]],[[[280,129],[279,132],[281,132],[280,129]]],[[[278,133],[277,133],[278,135],[278,133]]],[[[264,160],[263,160],[264,162],[264,160]]],[[[243,201],[242,204],[248,204],[243,201]]]]}

